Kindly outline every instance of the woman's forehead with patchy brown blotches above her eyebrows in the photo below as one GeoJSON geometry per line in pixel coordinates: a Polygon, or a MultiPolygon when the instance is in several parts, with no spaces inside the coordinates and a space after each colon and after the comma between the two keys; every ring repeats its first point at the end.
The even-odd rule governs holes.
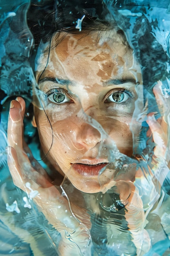
{"type": "Polygon", "coordinates": [[[134,65],[132,49],[114,29],[89,34],[57,32],[43,58],[48,61],[42,78],[56,76],[83,84],[128,76],[134,65]]]}

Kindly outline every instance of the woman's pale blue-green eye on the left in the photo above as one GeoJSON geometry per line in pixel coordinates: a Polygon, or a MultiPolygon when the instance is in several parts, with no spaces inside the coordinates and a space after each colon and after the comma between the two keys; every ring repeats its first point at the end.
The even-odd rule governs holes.
{"type": "Polygon", "coordinates": [[[67,97],[66,94],[68,93],[66,91],[62,90],[61,88],[57,89],[53,89],[47,93],[49,101],[57,104],[68,103],[72,101],[69,97],[67,97]]]}

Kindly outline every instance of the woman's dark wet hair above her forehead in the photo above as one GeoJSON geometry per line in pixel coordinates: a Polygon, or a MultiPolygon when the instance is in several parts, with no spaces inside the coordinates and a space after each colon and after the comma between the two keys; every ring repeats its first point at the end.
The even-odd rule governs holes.
{"type": "MultiPolygon", "coordinates": [[[[38,48],[40,41],[43,43],[49,42],[49,47],[52,49],[61,43],[67,35],[74,34],[83,38],[89,34],[97,33],[96,43],[106,36],[108,40],[116,40],[123,43],[126,52],[132,51],[124,31],[118,27],[117,22],[110,15],[108,9],[102,6],[102,1],[97,1],[99,5],[95,11],[89,8],[87,11],[87,8],[80,7],[76,7],[75,11],[72,6],[73,3],[71,4],[70,1],[68,1],[70,6],[65,8],[60,4],[57,6],[52,4],[55,1],[51,1],[51,5],[45,7],[35,4],[31,5],[28,12],[28,24],[35,40],[35,49],[38,48]],[[82,17],[81,29],[77,29],[77,20],[82,17]],[[62,32],[62,36],[59,36],[57,32],[62,32]],[[53,40],[53,43],[51,43],[51,38],[54,34],[55,41],[53,40]]],[[[79,6],[81,6],[81,1],[79,6]]],[[[44,51],[49,52],[49,47],[44,51]]]]}

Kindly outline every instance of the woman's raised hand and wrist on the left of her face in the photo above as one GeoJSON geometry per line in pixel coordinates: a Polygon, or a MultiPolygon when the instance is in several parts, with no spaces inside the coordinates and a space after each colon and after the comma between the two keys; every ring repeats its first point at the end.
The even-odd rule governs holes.
{"type": "Polygon", "coordinates": [[[18,97],[11,101],[8,120],[8,166],[13,183],[25,191],[30,200],[33,199],[38,204],[46,219],[60,232],[63,239],[59,250],[62,255],[66,255],[69,247],[73,247],[72,250],[75,248],[75,252],[79,248],[82,252],[85,251],[86,255],[90,255],[90,217],[78,206],[70,207],[62,194],[63,191],[60,193],[58,190],[61,188],[52,184],[49,175],[34,159],[23,139],[24,112],[24,99],[18,97]],[[66,233],[71,239],[69,236],[66,238],[66,233]]]}

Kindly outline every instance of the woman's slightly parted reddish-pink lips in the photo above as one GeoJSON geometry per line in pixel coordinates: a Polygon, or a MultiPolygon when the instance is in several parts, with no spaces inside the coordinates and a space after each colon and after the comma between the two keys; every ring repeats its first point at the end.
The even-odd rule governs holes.
{"type": "Polygon", "coordinates": [[[99,164],[72,164],[72,168],[77,173],[84,176],[97,176],[99,172],[104,168],[108,163],[99,163],[99,164]]]}

